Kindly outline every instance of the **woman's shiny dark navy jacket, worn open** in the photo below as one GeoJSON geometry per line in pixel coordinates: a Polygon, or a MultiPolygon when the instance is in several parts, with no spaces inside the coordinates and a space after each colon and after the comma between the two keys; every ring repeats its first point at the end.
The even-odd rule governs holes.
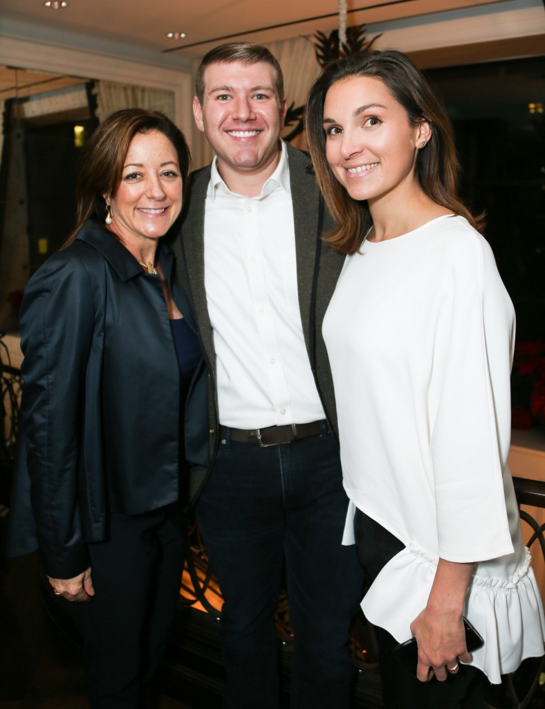
{"type": "MultiPolygon", "coordinates": [[[[173,252],[160,243],[158,256],[195,330],[173,252]]],[[[178,359],[159,275],[96,223],[28,281],[20,322],[26,451],[10,554],[38,546],[46,573],[69,579],[88,566],[86,544],[105,539],[108,511],[136,515],[180,496],[178,359]]],[[[185,457],[197,467],[209,457],[206,389],[201,362],[185,406],[185,457]]]]}

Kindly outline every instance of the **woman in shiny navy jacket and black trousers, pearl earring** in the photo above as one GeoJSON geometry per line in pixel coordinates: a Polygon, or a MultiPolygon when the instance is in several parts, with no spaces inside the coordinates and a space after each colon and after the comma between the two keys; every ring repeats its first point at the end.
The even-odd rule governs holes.
{"type": "Polygon", "coordinates": [[[93,708],[142,705],[176,610],[185,461],[207,464],[206,374],[161,241],[189,160],[161,113],[101,123],[82,155],[76,230],[21,308],[11,554],[38,547],[54,593],[75,601],[93,708]]]}

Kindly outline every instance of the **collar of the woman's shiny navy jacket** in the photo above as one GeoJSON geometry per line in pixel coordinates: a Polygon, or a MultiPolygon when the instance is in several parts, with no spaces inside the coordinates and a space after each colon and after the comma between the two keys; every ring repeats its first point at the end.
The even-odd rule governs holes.
{"type": "MultiPolygon", "coordinates": [[[[91,220],[87,221],[81,230],[79,230],[76,240],[84,241],[100,252],[122,281],[129,281],[134,277],[144,274],[137,259],[117,241],[113,233],[97,222],[91,220]]],[[[162,239],[159,240],[159,244],[157,245],[157,255],[168,282],[173,267],[173,253],[171,249],[162,242],[162,239]]]]}

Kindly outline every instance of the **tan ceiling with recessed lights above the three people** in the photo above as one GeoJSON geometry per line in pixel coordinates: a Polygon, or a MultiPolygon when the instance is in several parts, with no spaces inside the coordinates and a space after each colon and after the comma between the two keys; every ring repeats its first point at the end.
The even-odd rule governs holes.
{"type": "MultiPolygon", "coordinates": [[[[348,0],[348,24],[369,26],[503,1],[348,0]]],[[[47,9],[43,0],[1,0],[0,31],[3,26],[6,34],[22,26],[28,34],[34,27],[37,40],[61,45],[69,33],[86,48],[124,46],[143,60],[155,55],[164,63],[168,55],[169,64],[188,66],[192,57],[231,39],[268,43],[329,32],[338,27],[338,0],[68,0],[59,10],[47,9]],[[169,40],[171,31],[186,37],[169,40]]]]}

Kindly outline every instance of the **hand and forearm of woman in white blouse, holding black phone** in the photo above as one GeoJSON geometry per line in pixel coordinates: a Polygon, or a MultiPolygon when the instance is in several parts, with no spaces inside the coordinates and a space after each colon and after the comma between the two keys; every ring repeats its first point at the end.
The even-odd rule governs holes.
{"type": "Polygon", "coordinates": [[[469,662],[461,615],[474,564],[439,559],[428,604],[411,623],[418,643],[416,676],[426,682],[435,674],[439,681],[456,674],[458,662],[469,662]]]}

